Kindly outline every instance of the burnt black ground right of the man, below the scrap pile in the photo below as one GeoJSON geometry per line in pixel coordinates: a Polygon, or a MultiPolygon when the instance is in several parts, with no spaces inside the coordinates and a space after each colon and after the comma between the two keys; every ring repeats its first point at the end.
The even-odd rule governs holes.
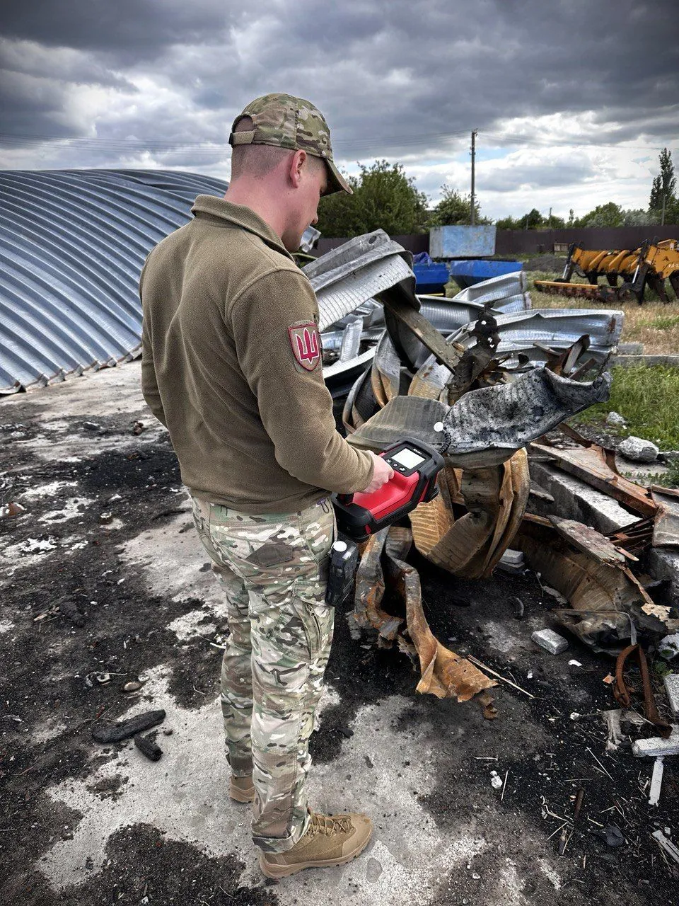
{"type": "MultiPolygon", "coordinates": [[[[540,628],[559,631],[550,619],[550,610],[558,604],[531,572],[495,573],[490,579],[471,581],[437,569],[419,554],[409,559],[420,573],[426,616],[436,637],[458,654],[482,660],[534,698],[499,682],[493,689],[499,717],[488,721],[473,701],[458,704],[417,695],[419,673],[411,670],[407,658],[397,651],[361,647],[369,636],[351,639],[342,614],[336,621],[328,668],[340,701],[323,712],[320,733],[312,737],[312,755],[331,761],[350,736],[362,705],[403,695],[411,699],[396,726],[404,733],[404,768],[418,752],[431,753],[435,786],[419,801],[443,834],[454,838],[460,827],[471,826],[485,839],[496,838],[506,845],[512,840],[512,824],[521,816],[521,824],[527,822],[543,835],[541,854],[553,857],[559,853],[559,828],[566,824],[568,843],[558,863],[563,885],[559,903],[674,904],[679,872],[665,863],[650,834],[660,829],[673,840],[679,836],[679,772],[674,759],[665,760],[661,802],[652,809],[647,800],[653,759],[634,758],[629,747],[607,754],[607,732],[598,712],[617,708],[610,686],[603,682],[615,660],[589,651],[570,636],[569,651],[558,657],[531,641],[537,621],[540,628]],[[517,620],[520,611],[523,616],[517,620]],[[517,637],[522,637],[519,644],[517,637]],[[569,665],[569,660],[578,660],[581,666],[569,665]],[[414,731],[416,748],[410,741],[414,731]],[[504,785],[503,796],[502,788],[492,786],[492,771],[504,785]],[[572,819],[579,789],[584,797],[577,824],[554,817],[572,819]],[[620,848],[608,847],[593,833],[610,824],[625,836],[620,848]]],[[[630,671],[628,679],[640,688],[637,671],[630,671]]],[[[655,685],[659,693],[658,679],[655,685]]],[[[638,699],[637,704],[641,708],[638,699]]],[[[652,728],[646,733],[629,729],[633,738],[655,735],[652,728]]],[[[368,768],[378,766],[378,744],[367,758],[368,768]]],[[[517,841],[506,856],[526,879],[523,892],[531,903],[554,900],[554,887],[534,860],[527,861],[521,843],[517,841]]],[[[473,861],[474,872],[480,875],[479,902],[485,901],[486,864],[488,872],[496,872],[496,848],[473,861]]],[[[469,877],[468,872],[458,872],[445,879],[435,902],[462,903],[470,895],[469,877]]]]}

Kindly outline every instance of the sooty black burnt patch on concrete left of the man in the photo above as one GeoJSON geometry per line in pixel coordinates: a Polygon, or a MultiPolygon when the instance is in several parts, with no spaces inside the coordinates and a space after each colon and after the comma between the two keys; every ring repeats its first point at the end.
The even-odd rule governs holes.
{"type": "MultiPolygon", "coordinates": [[[[127,431],[129,419],[121,420],[127,431]]],[[[172,490],[181,486],[167,443],[149,445],[142,438],[131,450],[103,451],[77,463],[45,463],[27,459],[24,451],[18,458],[10,452],[3,469],[4,498],[24,499],[28,512],[0,520],[0,539],[12,545],[50,539],[55,545],[46,556],[16,554],[18,568],[0,607],[0,617],[14,623],[2,678],[6,712],[14,717],[5,716],[0,726],[5,787],[0,827],[6,828],[0,834],[0,900],[10,901],[5,888],[14,884],[17,865],[30,866],[62,834],[63,825],[75,820],[48,801],[44,789],[89,776],[102,759],[116,757],[117,747],[93,743],[91,727],[115,720],[129,708],[125,683],[157,664],[171,664],[169,688],[177,703],[201,707],[206,695],[217,691],[219,651],[207,641],[177,644],[167,624],[200,602],[149,596],[120,560],[121,545],[143,528],[162,526],[179,510],[186,510],[190,521],[186,500],[172,490]],[[74,485],[47,497],[23,496],[34,487],[65,481],[74,485]],[[94,502],[74,518],[38,522],[73,497],[94,502]],[[123,526],[108,528],[101,522],[106,512],[123,526]],[[87,545],[79,547],[82,541],[87,545]],[[108,681],[100,682],[107,675],[108,681]],[[36,726],[53,732],[44,742],[31,744],[29,730],[36,726]],[[93,750],[100,750],[100,758],[91,757],[93,750]]],[[[143,701],[143,687],[139,695],[143,701]]],[[[153,708],[152,702],[148,707],[153,708]]],[[[95,792],[117,795],[113,788],[95,792]]],[[[93,893],[88,896],[79,901],[73,894],[68,902],[97,899],[93,893]]],[[[29,902],[21,896],[17,901],[29,902]]],[[[43,901],[49,900],[36,900],[43,901]]]]}

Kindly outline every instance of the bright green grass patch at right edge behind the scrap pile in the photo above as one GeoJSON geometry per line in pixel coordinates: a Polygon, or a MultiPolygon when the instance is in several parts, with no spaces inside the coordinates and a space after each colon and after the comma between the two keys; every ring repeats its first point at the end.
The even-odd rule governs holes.
{"type": "Polygon", "coordinates": [[[652,440],[661,449],[679,449],[679,368],[636,365],[613,368],[610,400],[580,413],[580,421],[605,419],[610,411],[626,420],[625,435],[652,440]]]}

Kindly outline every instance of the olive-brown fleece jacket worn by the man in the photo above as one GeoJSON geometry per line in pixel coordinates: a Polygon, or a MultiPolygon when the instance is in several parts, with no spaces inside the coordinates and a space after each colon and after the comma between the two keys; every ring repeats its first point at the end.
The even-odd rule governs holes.
{"type": "Polygon", "coordinates": [[[148,255],[141,384],[194,496],[293,513],[368,486],[372,460],[335,427],[320,364],[288,328],[318,323],[308,278],[250,208],[199,195],[194,219],[148,255]]]}

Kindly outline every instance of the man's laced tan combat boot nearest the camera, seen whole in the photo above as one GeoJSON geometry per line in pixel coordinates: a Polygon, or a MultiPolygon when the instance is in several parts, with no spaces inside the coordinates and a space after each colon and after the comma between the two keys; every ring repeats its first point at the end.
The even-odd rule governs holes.
{"type": "Polygon", "coordinates": [[[351,862],[363,852],[372,834],[365,814],[316,814],[306,834],[287,853],[261,853],[267,878],[286,878],[303,868],[327,868],[351,862]]]}

